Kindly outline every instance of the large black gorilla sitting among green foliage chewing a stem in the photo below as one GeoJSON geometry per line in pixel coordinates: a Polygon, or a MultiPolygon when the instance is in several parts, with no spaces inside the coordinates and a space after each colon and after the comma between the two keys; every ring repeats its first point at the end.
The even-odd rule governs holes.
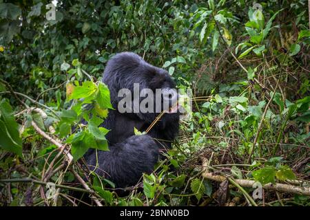
{"type": "MultiPolygon", "coordinates": [[[[152,172],[160,155],[159,150],[171,147],[172,140],[178,134],[179,113],[165,113],[147,135],[134,135],[134,127],[145,131],[158,113],[120,113],[118,102],[123,97],[118,98],[118,91],[125,88],[133,93],[134,83],[138,83],[140,90],[152,89],[155,94],[156,89],[172,89],[175,85],[167,71],[146,63],[132,52],[116,54],[107,62],[103,83],[110,89],[115,110],[109,111],[101,124],[110,129],[106,135],[110,151],[98,151],[99,167],[96,173],[112,180],[118,187],[132,186],[142,173],[152,172]]],[[[94,170],[94,149],[86,153],[85,159],[90,170],[94,170]]]]}

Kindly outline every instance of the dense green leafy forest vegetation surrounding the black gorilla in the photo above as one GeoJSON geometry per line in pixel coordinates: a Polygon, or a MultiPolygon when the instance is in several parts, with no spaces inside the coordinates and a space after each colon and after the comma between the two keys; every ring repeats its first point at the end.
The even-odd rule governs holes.
{"type": "Polygon", "coordinates": [[[66,0],[56,20],[48,3],[0,0],[1,206],[310,204],[308,1],[66,0]],[[83,168],[107,150],[100,81],[123,51],[193,91],[166,159],[125,192],[83,168]]]}

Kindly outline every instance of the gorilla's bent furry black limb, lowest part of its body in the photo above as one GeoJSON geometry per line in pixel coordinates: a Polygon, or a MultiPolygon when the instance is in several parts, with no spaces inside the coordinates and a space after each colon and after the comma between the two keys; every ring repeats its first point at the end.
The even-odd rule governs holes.
{"type": "Polygon", "coordinates": [[[97,168],[96,153],[85,159],[90,170],[121,188],[138,183],[142,173],[152,173],[159,155],[158,146],[149,135],[133,135],[109,148],[110,151],[97,152],[97,168]]]}

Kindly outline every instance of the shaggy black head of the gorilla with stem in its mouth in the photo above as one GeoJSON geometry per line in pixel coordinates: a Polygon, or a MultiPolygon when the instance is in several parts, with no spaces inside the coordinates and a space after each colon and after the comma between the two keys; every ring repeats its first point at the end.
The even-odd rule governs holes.
{"type": "Polygon", "coordinates": [[[165,69],[146,63],[137,54],[123,52],[110,59],[103,74],[103,83],[109,87],[111,96],[119,94],[121,89],[130,91],[131,97],[126,94],[111,97],[111,100],[114,109],[118,109],[118,103],[123,103],[125,97],[130,98],[131,103],[126,103],[130,110],[126,114],[131,118],[136,116],[145,122],[153,122],[156,116],[165,111],[157,123],[163,128],[165,124],[178,120],[178,95],[172,78],[165,69]],[[147,111],[143,111],[143,107],[147,111]]]}

